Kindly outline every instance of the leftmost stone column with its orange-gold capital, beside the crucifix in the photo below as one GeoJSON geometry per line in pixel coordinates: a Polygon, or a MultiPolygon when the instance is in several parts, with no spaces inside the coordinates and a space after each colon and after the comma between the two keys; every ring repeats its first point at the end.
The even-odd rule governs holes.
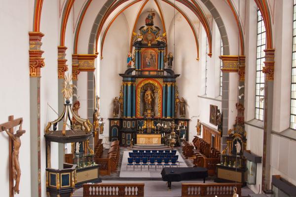
{"type": "Polygon", "coordinates": [[[35,197],[41,197],[40,69],[45,65],[40,48],[43,36],[41,32],[29,32],[31,195],[35,197]]]}

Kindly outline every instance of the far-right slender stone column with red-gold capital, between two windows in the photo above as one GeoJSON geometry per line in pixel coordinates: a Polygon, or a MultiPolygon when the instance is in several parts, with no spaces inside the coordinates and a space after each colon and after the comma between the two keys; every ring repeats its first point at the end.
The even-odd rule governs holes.
{"type": "Polygon", "coordinates": [[[270,190],[270,139],[272,131],[274,48],[265,49],[265,61],[262,72],[265,74],[264,87],[264,130],[262,157],[262,191],[270,190]]]}

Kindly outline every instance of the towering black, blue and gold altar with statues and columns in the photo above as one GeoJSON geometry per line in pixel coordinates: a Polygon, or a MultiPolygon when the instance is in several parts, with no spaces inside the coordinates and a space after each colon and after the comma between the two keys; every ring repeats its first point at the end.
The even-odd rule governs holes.
{"type": "MultiPolygon", "coordinates": [[[[165,33],[159,35],[159,28],[153,26],[153,12],[146,18],[146,26],[140,34],[133,33],[133,62],[127,65],[122,77],[118,102],[114,99],[113,118],[109,118],[110,141],[119,140],[123,146],[137,144],[137,134],[169,134],[171,131],[157,127],[174,121],[182,125],[178,135],[188,139],[189,119],[177,118],[180,103],[176,78],[180,75],[172,70],[172,54],[166,56],[165,33]],[[165,63],[170,65],[165,68],[165,63]],[[120,113],[117,108],[120,104],[120,113]]],[[[130,62],[130,56],[128,56],[130,62]]],[[[185,103],[185,102],[184,102],[185,103]]],[[[185,105],[184,105],[185,106],[185,105]]]]}

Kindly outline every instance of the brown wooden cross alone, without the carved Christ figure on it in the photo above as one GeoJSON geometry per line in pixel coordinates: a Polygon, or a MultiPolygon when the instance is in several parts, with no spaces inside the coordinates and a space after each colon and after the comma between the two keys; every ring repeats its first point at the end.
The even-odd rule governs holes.
{"type": "MultiPolygon", "coordinates": [[[[8,122],[0,124],[0,132],[8,130],[13,134],[13,127],[20,125],[23,122],[23,118],[13,119],[13,116],[8,117],[8,122]]],[[[13,142],[9,138],[9,197],[14,197],[13,193],[13,175],[12,175],[12,151],[13,151],[13,142]]]]}

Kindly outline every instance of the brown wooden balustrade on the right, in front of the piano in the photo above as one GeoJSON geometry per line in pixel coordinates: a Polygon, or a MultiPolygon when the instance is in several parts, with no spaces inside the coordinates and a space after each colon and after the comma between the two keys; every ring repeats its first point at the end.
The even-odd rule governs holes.
{"type": "Polygon", "coordinates": [[[182,197],[232,197],[234,187],[241,196],[240,183],[182,183],[182,197]]]}

